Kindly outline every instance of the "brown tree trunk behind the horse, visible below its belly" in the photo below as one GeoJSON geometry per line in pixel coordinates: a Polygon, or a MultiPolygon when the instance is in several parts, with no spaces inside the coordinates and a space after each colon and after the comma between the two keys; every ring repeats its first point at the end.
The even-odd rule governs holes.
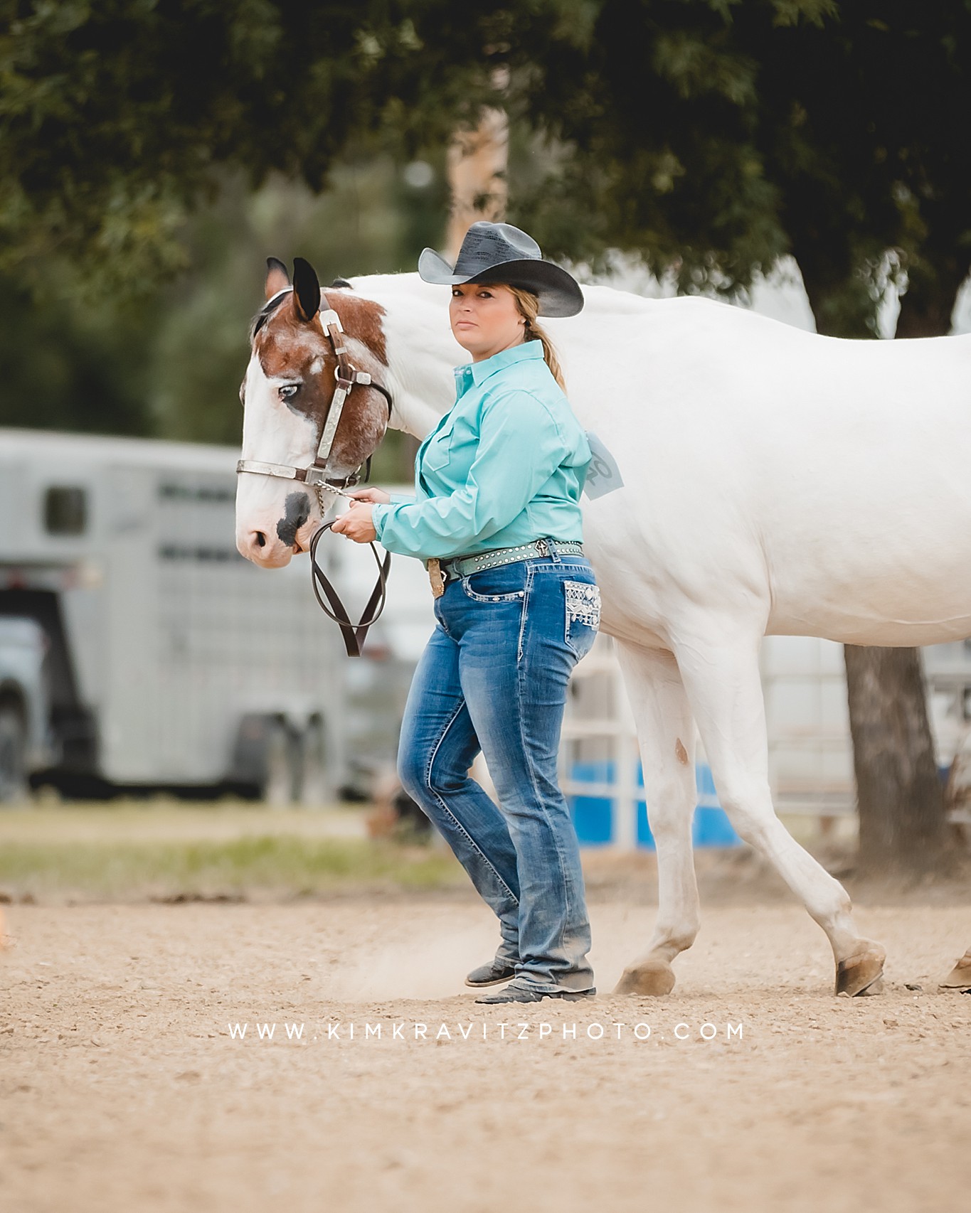
{"type": "MultiPolygon", "coordinates": [[[[814,278],[811,269],[807,273],[806,268],[800,268],[819,332],[839,337],[868,335],[863,317],[854,323],[848,311],[840,313],[828,306],[828,281],[814,278]],[[835,319],[837,314],[839,331],[830,331],[827,318],[835,319]]],[[[919,303],[924,295],[921,285],[912,284],[916,289],[909,304],[907,295],[902,298],[901,317],[908,336],[916,335],[908,331],[912,313],[920,309],[937,317],[943,314],[939,302],[933,304],[925,298],[919,303]]],[[[944,331],[949,331],[953,306],[952,291],[944,331]]],[[[916,649],[847,644],[844,657],[861,867],[871,873],[905,871],[920,875],[938,864],[946,839],[944,791],[937,775],[920,654],[916,649]]]]}

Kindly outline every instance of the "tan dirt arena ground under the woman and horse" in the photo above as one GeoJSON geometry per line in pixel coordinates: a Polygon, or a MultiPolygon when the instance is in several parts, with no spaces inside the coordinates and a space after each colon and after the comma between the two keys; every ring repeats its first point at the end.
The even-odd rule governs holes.
{"type": "Polygon", "coordinates": [[[0,1208],[958,1213],[971,997],[936,979],[971,898],[912,901],[858,911],[881,997],[835,1000],[770,899],[709,906],[647,1000],[608,991],[652,906],[595,899],[604,996],[526,1013],[462,991],[469,896],[6,906],[0,1208]]]}

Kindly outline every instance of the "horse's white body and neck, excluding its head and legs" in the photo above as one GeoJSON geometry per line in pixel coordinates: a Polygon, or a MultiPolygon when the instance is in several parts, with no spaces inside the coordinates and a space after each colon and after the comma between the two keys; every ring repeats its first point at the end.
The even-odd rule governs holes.
{"type": "MultiPolygon", "coordinates": [[[[418,352],[410,296],[428,287],[386,281],[356,289],[386,307],[392,374],[427,385],[436,416],[403,418],[424,437],[467,355],[427,336],[418,352]]],[[[668,643],[678,608],[700,608],[760,636],[971,634],[971,335],[839,341],[708,300],[585,294],[579,317],[546,326],[625,482],[584,501],[604,631],[643,642],[649,625],[668,643]]]]}

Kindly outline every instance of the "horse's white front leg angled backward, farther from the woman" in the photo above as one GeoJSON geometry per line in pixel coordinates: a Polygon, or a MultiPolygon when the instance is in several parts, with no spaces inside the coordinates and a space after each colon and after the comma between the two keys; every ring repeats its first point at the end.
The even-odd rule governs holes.
{"type": "Polygon", "coordinates": [[[844,887],[799,845],[772,807],[760,637],[723,620],[699,622],[695,634],[682,634],[675,655],[722,808],[827,933],[836,959],[836,993],[876,993],[884,949],[859,935],[844,887]],[[719,633],[721,639],[712,640],[719,633]]]}

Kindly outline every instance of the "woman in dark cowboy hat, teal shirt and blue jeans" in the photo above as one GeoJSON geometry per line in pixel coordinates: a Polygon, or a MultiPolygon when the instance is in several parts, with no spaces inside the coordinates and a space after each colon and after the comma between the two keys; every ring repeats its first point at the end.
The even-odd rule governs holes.
{"type": "Polygon", "coordinates": [[[580,545],[590,461],[536,315],[575,315],[583,294],[539,245],[473,223],[454,268],[431,249],[425,281],[452,286],[455,340],[472,355],[421,444],[416,499],[363,489],[334,524],[357,542],[426,560],[438,626],[408,697],[398,769],[499,917],[477,1001],[592,996],[577,836],[556,778],[567,682],[594,643],[600,591],[580,545]],[[482,750],[500,808],[469,776],[482,750]]]}

